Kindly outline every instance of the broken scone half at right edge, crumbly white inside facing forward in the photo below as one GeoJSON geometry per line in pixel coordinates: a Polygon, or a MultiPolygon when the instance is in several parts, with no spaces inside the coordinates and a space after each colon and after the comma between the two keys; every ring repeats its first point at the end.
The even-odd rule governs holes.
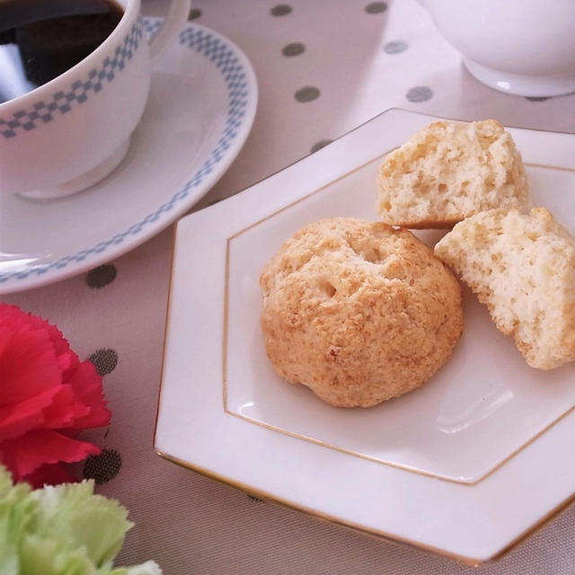
{"type": "Polygon", "coordinates": [[[531,367],[575,359],[575,238],[545,208],[470,217],[435,247],[531,367]]]}

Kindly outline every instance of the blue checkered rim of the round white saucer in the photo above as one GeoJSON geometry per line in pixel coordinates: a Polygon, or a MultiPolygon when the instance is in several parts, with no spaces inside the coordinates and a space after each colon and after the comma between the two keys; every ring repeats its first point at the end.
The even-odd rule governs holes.
{"type": "MultiPolygon", "coordinates": [[[[147,33],[154,33],[162,18],[146,16],[143,19],[147,33]]],[[[187,210],[192,208],[217,181],[226,173],[240,153],[250,134],[258,105],[258,83],[252,63],[232,40],[224,34],[198,23],[188,22],[180,34],[177,46],[190,49],[194,54],[204,57],[208,66],[217,69],[223,76],[224,90],[227,95],[226,122],[217,135],[217,143],[199,157],[197,168],[186,177],[186,181],[173,188],[154,211],[142,217],[138,222],[127,224],[125,229],[116,232],[99,243],[85,247],[75,253],[66,254],[57,260],[43,261],[41,264],[14,268],[0,272],[0,295],[25,291],[48,285],[56,281],[79,275],[102,263],[116,259],[135,249],[148,239],[170,226],[187,210]],[[236,70],[244,75],[244,84],[234,85],[233,77],[226,77],[226,70],[220,69],[220,62],[190,44],[189,36],[198,34],[199,38],[214,38],[218,46],[225,46],[225,55],[231,55],[237,61],[236,70]],[[236,94],[234,94],[234,91],[236,94]],[[234,95],[233,95],[234,94],[234,95]],[[234,98],[241,98],[239,111],[234,110],[234,98]],[[167,208],[166,208],[167,207],[167,208]]],[[[170,50],[174,49],[172,47],[170,50]]],[[[169,52],[167,57],[169,57],[169,52]]],[[[155,70],[161,71],[161,63],[155,70]]],[[[154,72],[152,73],[154,75],[154,72]]]]}

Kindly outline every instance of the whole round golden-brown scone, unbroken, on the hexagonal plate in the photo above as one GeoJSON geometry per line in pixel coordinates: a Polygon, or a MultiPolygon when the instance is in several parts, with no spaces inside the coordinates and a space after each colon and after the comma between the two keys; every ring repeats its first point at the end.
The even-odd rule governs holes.
{"type": "Polygon", "coordinates": [[[454,275],[411,232],[337,217],[304,227],[261,273],[261,329],[279,376],[368,407],[419,387],[463,330],[454,275]]]}

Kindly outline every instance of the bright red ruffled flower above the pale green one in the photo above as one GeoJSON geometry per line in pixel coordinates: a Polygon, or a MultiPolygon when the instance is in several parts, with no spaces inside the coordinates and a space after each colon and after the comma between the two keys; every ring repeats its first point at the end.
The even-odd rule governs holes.
{"type": "Polygon", "coordinates": [[[98,455],[75,439],[110,422],[102,377],[54,325],[0,304],[0,462],[33,487],[75,481],[62,463],[98,455]]]}

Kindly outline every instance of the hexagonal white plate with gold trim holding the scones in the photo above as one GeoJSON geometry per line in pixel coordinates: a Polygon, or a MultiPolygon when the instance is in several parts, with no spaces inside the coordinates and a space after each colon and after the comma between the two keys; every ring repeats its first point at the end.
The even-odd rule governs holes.
{"type": "MultiPolygon", "coordinates": [[[[385,112],[181,220],[155,448],[293,508],[477,563],[573,494],[574,367],[527,367],[465,292],[464,337],[429,384],[338,410],[274,374],[259,324],[258,278],[280,243],[321,217],[375,219],[383,155],[433,120],[385,112]]],[[[535,205],[575,229],[575,137],[510,131],[535,205]]]]}

